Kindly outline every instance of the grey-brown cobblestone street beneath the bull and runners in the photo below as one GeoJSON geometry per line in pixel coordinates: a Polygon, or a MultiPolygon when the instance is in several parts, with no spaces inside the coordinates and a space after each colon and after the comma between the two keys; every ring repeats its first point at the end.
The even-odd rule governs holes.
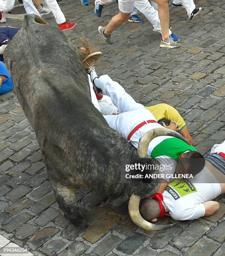
{"type": "MultiPolygon", "coordinates": [[[[105,6],[101,18],[94,15],[93,0],[87,7],[79,0],[62,0],[59,5],[66,19],[77,23],[75,29],[65,32],[72,44],[79,44],[75,37],[83,35],[94,50],[102,51],[97,74],[108,74],[146,106],[165,102],[175,107],[187,122],[194,146],[204,156],[215,143],[224,141],[224,1],[197,0],[196,6],[204,9],[192,21],[185,9],[170,1],[170,26],[180,38],[179,49],[160,48],[160,33],[154,32],[140,13],[144,23],[124,23],[113,33],[115,44],[105,44],[97,28],[117,13],[117,3],[105,6]]],[[[19,13],[25,13],[23,5],[12,12],[19,13]]],[[[43,18],[57,26],[51,13],[43,18]]],[[[2,25],[21,28],[22,22],[7,18],[2,25]]],[[[8,239],[2,245],[4,239],[0,238],[0,245],[15,243],[40,256],[225,254],[225,196],[219,199],[220,210],[210,217],[145,232],[128,215],[105,206],[104,195],[80,189],[77,197],[88,228],[75,228],[61,214],[35,133],[14,90],[0,95],[0,113],[0,235],[8,239]]],[[[158,223],[172,221],[165,217],[158,223]]]]}

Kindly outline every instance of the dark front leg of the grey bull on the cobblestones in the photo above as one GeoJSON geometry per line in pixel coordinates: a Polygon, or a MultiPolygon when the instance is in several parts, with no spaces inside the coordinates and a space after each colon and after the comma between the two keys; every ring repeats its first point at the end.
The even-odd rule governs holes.
{"type": "Polygon", "coordinates": [[[86,220],[84,219],[82,213],[77,207],[77,201],[75,197],[75,192],[78,188],[69,189],[68,187],[63,186],[59,182],[55,182],[50,179],[52,189],[55,192],[56,200],[65,213],[66,217],[71,221],[76,227],[85,227],[86,220]]]}

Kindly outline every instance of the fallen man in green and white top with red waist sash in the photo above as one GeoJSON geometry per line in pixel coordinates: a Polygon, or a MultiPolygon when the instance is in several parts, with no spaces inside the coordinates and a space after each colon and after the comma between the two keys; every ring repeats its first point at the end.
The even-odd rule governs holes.
{"type": "MultiPolygon", "coordinates": [[[[95,69],[92,67],[90,70],[90,80],[96,87],[96,90],[103,90],[110,96],[113,104],[118,108],[120,113],[117,115],[103,115],[111,128],[119,132],[124,138],[127,138],[133,146],[138,148],[140,138],[145,133],[154,129],[162,128],[154,115],[147,110],[142,104],[135,102],[135,100],[125,92],[122,86],[112,79],[103,75],[97,77],[95,69]]],[[[100,111],[96,97],[93,97],[92,103],[100,111]]],[[[192,174],[193,176],[200,172],[204,165],[204,157],[197,152],[197,150],[182,141],[179,138],[172,136],[159,136],[154,138],[148,147],[148,156],[156,158],[160,164],[170,163],[171,170],[164,170],[166,174],[192,174]],[[183,160],[185,159],[185,163],[183,160]],[[199,163],[193,163],[193,159],[199,159],[199,163]]],[[[147,156],[146,156],[147,157],[147,156]]],[[[157,192],[163,192],[167,187],[170,178],[165,178],[166,183],[161,183],[157,192]]]]}

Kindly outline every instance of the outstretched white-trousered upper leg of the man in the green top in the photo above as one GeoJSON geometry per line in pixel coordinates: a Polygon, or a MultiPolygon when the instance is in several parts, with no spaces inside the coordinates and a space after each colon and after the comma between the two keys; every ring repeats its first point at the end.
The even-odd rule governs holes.
{"type": "Polygon", "coordinates": [[[100,76],[94,80],[95,86],[102,89],[110,98],[113,104],[120,112],[127,112],[135,108],[144,108],[140,103],[137,103],[124,88],[117,82],[112,81],[108,75],[100,76]]]}

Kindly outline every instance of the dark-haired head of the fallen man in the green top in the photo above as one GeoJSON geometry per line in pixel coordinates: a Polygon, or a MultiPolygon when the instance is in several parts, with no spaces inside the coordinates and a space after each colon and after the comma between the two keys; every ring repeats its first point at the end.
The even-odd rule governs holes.
{"type": "Polygon", "coordinates": [[[188,151],[180,154],[176,167],[177,174],[192,174],[195,176],[205,166],[205,158],[198,151],[188,151]]]}

